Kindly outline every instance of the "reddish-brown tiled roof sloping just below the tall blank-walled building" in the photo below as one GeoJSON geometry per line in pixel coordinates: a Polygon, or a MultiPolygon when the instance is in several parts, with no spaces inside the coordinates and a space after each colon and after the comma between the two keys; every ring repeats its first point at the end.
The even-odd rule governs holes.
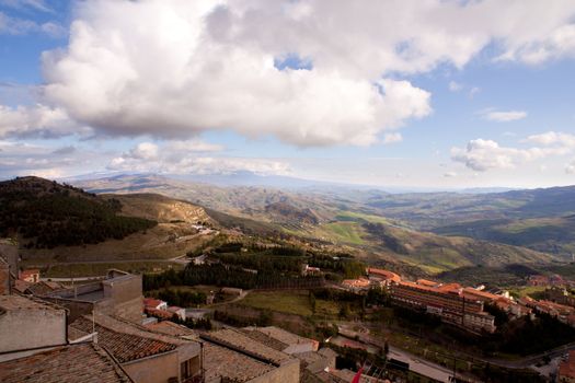
{"type": "MultiPolygon", "coordinates": [[[[70,326],[84,333],[92,333],[92,322],[85,317],[78,318],[70,326]]],[[[99,345],[108,350],[120,363],[168,352],[176,348],[175,345],[133,334],[118,333],[99,324],[95,324],[95,330],[97,332],[99,345]]]]}

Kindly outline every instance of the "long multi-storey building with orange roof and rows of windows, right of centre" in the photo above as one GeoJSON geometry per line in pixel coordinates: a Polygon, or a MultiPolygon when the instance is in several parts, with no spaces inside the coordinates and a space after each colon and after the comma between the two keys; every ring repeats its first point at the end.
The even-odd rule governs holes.
{"type": "Polygon", "coordinates": [[[419,279],[391,285],[391,299],[395,304],[438,315],[441,321],[473,332],[495,330],[495,318],[483,311],[483,300],[462,293],[458,283],[441,285],[419,279]]]}

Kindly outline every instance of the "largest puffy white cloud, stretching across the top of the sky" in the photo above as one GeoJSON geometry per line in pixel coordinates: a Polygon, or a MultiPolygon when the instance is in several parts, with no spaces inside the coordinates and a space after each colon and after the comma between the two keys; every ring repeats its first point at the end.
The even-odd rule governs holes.
{"type": "Polygon", "coordinates": [[[45,54],[44,71],[48,100],[83,124],[365,146],[432,112],[428,92],[389,73],[462,68],[493,42],[526,62],[519,53],[533,44],[568,55],[575,3],[99,0],[76,14],[68,48],[45,54]],[[275,68],[287,55],[311,69],[275,68]]]}

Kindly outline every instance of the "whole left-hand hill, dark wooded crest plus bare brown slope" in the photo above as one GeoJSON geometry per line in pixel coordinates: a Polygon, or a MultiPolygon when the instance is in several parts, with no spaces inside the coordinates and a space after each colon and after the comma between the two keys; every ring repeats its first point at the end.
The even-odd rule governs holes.
{"type": "Polygon", "coordinates": [[[0,183],[0,235],[19,240],[24,260],[171,258],[214,236],[197,222],[217,227],[203,208],[164,196],[96,196],[37,177],[0,183]]]}

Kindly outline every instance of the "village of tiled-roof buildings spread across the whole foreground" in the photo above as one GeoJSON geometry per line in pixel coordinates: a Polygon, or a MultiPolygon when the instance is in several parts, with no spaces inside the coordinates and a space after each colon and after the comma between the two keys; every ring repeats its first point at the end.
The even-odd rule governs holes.
{"type": "MultiPolygon", "coordinates": [[[[222,246],[229,249],[230,244],[222,246]]],[[[441,348],[426,346],[422,332],[435,332],[441,323],[447,326],[442,330],[490,343],[497,339],[498,326],[511,328],[526,320],[568,328],[575,323],[574,300],[560,287],[570,282],[555,277],[529,278],[531,286],[548,287],[547,299],[536,300],[484,286],[410,281],[376,267],[363,269],[358,278],[333,281],[321,267],[302,264],[297,282],[276,281],[276,288],[246,290],[245,280],[230,279],[229,286],[185,293],[165,287],[179,278],[175,271],[142,276],[111,269],[103,278],[70,285],[20,267],[18,247],[9,241],[0,251],[2,382],[78,376],[83,382],[138,383],[350,382],[354,376],[361,382],[479,382],[485,369],[538,382],[544,379],[536,371],[497,365],[493,358],[451,360],[441,348]],[[256,297],[273,299],[266,294],[275,291],[283,300],[303,297],[302,290],[315,318],[312,327],[294,315],[254,311],[261,303],[256,297]],[[341,309],[330,314],[330,305],[338,306],[330,302],[337,301],[341,309]],[[390,310],[395,320],[381,316],[390,310]],[[393,321],[403,322],[394,326],[393,321]],[[418,350],[400,341],[414,338],[400,327],[418,328],[418,350]]],[[[208,267],[216,274],[221,267],[234,269],[212,255],[191,258],[184,275],[194,278],[194,269],[208,267]]],[[[242,267],[239,272],[262,271],[242,267]]],[[[567,378],[574,363],[567,356],[548,374],[567,378]]]]}

